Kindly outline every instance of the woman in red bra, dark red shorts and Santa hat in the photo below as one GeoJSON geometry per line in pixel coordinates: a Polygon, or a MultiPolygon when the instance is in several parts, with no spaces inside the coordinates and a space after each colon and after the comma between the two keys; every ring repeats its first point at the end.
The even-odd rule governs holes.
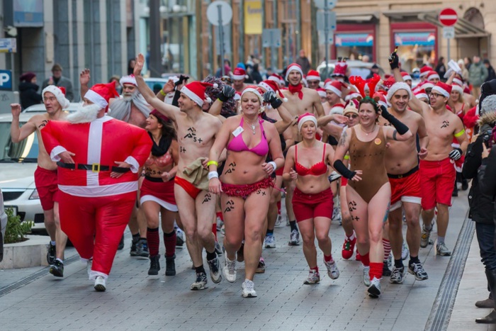
{"type": "Polygon", "coordinates": [[[320,281],[317,266],[315,237],[322,253],[327,274],[331,279],[339,277],[339,269],[332,259],[329,228],[332,216],[332,191],[327,179],[328,164],[332,163],[332,146],[315,139],[317,119],[305,113],[298,118],[298,131],[302,142],[292,146],[286,155],[283,179],[296,180],[293,196],[293,210],[303,237],[303,254],[310,272],[303,284],[317,284],[320,281]]]}

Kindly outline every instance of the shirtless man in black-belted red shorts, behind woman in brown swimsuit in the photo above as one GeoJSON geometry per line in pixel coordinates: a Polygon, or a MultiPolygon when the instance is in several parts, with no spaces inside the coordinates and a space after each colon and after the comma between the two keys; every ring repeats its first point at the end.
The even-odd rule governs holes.
{"type": "MultiPolygon", "coordinates": [[[[408,102],[414,98],[410,86],[403,82],[400,69],[395,62],[391,62],[391,69],[397,83],[388,91],[387,99],[391,104],[388,111],[410,128],[413,137],[403,141],[391,141],[385,152],[385,169],[388,172],[391,184],[391,206],[389,209],[389,240],[395,257],[395,264],[390,276],[390,283],[401,284],[405,279],[406,270],[402,261],[402,213],[405,211],[407,220],[407,243],[410,248],[410,262],[408,272],[415,276],[417,281],[429,279],[427,272],[419,260],[420,224],[422,195],[420,191],[418,159],[427,157],[429,137],[424,118],[414,111],[407,109],[408,102]],[[420,151],[417,153],[417,139],[419,137],[420,151]]],[[[381,117],[381,125],[390,123],[381,117]]]]}

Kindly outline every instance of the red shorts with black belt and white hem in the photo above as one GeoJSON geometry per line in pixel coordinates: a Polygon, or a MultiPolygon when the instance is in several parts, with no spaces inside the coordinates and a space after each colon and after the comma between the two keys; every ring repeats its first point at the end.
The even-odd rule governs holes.
{"type": "Polygon", "coordinates": [[[401,207],[402,202],[420,204],[422,195],[420,194],[419,169],[415,167],[403,175],[388,174],[391,184],[391,206],[389,211],[394,211],[401,207]]]}

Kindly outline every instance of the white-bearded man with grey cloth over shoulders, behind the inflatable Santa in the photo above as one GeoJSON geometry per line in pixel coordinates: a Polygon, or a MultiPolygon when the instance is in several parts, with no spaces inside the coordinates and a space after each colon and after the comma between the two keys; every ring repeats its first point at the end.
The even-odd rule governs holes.
{"type": "MultiPolygon", "coordinates": [[[[84,69],[79,74],[79,83],[81,84],[81,96],[84,96],[89,90],[89,69],[84,69]]],[[[120,79],[120,85],[123,86],[123,98],[112,98],[108,101],[110,109],[108,115],[123,120],[124,122],[145,128],[145,120],[150,115],[153,108],[146,103],[139,91],[137,91],[136,79],[133,75],[124,76],[120,79]]],[[[141,177],[140,177],[141,178],[141,177]]],[[[141,183],[141,181],[140,181],[141,183]]],[[[147,245],[147,220],[141,210],[135,206],[129,220],[129,230],[133,236],[131,241],[130,255],[132,257],[148,257],[147,245]]],[[[119,249],[124,247],[124,235],[120,241],[119,249]]]]}

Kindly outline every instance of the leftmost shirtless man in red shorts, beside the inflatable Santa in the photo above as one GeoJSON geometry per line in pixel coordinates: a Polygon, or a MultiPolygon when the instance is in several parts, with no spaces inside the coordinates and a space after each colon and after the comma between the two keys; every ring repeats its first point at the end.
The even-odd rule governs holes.
{"type": "Polygon", "coordinates": [[[66,118],[67,114],[62,109],[69,107],[69,100],[65,99],[63,91],[55,85],[45,87],[42,96],[47,112],[33,116],[21,128],[19,128],[21,105],[11,104],[11,139],[12,142],[20,142],[34,132],[38,137],[38,168],[35,171],[35,185],[45,216],[45,229],[50,235],[47,262],[50,264],[50,274],[63,277],[67,235],[60,229],[59,203],[57,202],[57,164],[52,162],[50,155],[45,150],[41,139],[41,130],[50,120],[64,120],[66,118]]]}

